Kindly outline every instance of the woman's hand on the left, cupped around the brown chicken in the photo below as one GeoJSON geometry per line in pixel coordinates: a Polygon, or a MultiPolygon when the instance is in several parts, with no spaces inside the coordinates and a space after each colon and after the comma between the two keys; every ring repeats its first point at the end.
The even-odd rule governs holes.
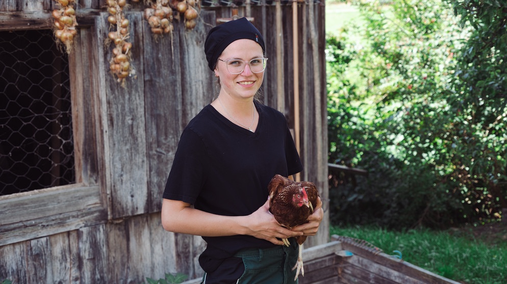
{"type": "MultiPolygon", "coordinates": [[[[279,239],[288,239],[290,237],[303,235],[302,231],[291,231],[278,224],[273,214],[269,212],[269,198],[263,206],[247,217],[247,224],[245,225],[250,229],[247,235],[270,241],[276,245],[284,244],[279,239]]],[[[318,218],[318,216],[315,218],[318,218]]],[[[320,219],[322,219],[322,217],[320,217],[320,219]]],[[[320,221],[318,223],[320,223],[320,221]]]]}

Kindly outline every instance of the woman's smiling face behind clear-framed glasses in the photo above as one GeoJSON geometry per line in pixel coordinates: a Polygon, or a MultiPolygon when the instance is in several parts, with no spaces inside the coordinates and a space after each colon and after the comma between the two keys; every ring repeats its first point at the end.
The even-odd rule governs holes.
{"type": "MultiPolygon", "coordinates": [[[[262,47],[255,41],[240,39],[228,45],[219,56],[223,61],[241,59],[245,63],[255,58],[263,58],[262,47]]],[[[250,66],[245,64],[245,69],[239,74],[231,74],[227,71],[226,63],[218,60],[215,73],[220,77],[220,93],[226,93],[237,98],[251,98],[261,87],[264,71],[254,73],[250,66]]]]}

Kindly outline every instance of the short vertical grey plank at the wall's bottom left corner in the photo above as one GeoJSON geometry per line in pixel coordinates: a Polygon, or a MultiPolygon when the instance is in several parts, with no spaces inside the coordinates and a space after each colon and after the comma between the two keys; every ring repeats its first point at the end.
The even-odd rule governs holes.
{"type": "Polygon", "coordinates": [[[24,242],[0,246],[0,280],[28,283],[26,247],[24,242]]]}

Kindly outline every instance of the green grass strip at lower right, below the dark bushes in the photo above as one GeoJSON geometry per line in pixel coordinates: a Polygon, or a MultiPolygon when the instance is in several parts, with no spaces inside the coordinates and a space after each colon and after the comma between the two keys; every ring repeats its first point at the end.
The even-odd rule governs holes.
{"type": "Polygon", "coordinates": [[[507,283],[507,228],[488,239],[474,237],[466,230],[425,229],[393,232],[360,226],[338,228],[331,234],[366,240],[387,254],[449,279],[468,284],[507,283]]]}

